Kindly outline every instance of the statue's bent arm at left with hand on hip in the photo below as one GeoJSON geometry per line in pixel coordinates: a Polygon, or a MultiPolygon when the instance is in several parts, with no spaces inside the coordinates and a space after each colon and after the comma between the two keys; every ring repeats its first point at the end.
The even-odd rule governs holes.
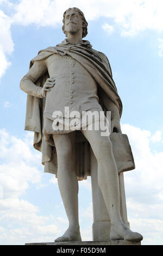
{"type": "Polygon", "coordinates": [[[20,82],[21,90],[32,96],[40,98],[46,97],[46,92],[50,90],[49,88],[54,86],[54,79],[48,78],[43,88],[35,85],[37,79],[45,74],[46,71],[47,66],[43,60],[35,61],[20,82]]]}

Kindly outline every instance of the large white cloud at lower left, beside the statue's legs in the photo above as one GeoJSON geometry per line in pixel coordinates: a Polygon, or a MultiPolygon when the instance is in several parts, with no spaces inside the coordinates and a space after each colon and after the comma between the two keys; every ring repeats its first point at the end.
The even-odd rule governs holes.
{"type": "Polygon", "coordinates": [[[20,139],[5,129],[0,130],[0,240],[3,244],[54,241],[54,236],[61,232],[55,224],[56,218],[54,223],[49,223],[49,216],[39,215],[38,206],[20,199],[30,184],[41,185],[42,173],[37,169],[41,158],[32,150],[32,137],[31,132],[20,139]]]}

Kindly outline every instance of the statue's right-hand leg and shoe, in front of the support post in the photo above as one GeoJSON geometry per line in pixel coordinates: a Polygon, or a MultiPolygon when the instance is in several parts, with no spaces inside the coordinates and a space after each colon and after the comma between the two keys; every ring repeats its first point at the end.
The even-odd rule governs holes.
{"type": "Polygon", "coordinates": [[[90,142],[98,163],[98,184],[101,188],[106,209],[111,221],[110,240],[126,239],[141,241],[142,235],[131,231],[120,215],[120,192],[116,162],[109,136],[102,137],[101,131],[82,131],[90,142]]]}

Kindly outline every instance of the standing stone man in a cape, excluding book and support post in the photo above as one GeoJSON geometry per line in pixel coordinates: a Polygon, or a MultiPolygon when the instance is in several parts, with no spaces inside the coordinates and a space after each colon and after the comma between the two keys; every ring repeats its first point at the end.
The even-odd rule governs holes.
{"type": "MultiPolygon", "coordinates": [[[[110,240],[141,241],[142,236],[131,231],[120,215],[118,172],[109,135],[101,136],[101,129],[61,131],[53,127],[53,112],[64,113],[65,107],[79,113],[105,109],[111,111],[111,132],[121,133],[122,103],[107,57],[82,40],[87,34],[82,11],[69,8],[63,23],[67,39],[40,51],[20,83],[28,94],[25,129],[35,132],[34,147],[42,152],[45,172],[57,175],[69,221],[64,235],[55,241],[81,241],[78,180],[89,175],[89,147],[97,159],[98,184],[110,216],[110,240]]],[[[55,124],[60,125],[60,120],[66,124],[68,118],[71,119],[64,113],[55,124]]]]}

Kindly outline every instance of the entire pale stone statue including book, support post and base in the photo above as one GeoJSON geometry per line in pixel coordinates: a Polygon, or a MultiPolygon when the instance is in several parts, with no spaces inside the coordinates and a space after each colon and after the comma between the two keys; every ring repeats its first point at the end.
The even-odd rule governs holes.
{"type": "Polygon", "coordinates": [[[127,221],[122,172],[134,169],[135,165],[128,138],[121,132],[122,102],[108,58],[83,40],[87,22],[82,11],[69,8],[63,22],[62,30],[67,39],[41,50],[30,62],[30,69],[20,83],[28,94],[25,128],[35,132],[34,147],[42,153],[45,172],[58,178],[69,220],[64,235],[55,239],[55,243],[45,244],[70,245],[71,242],[65,241],[73,241],[73,245],[79,245],[80,242],[74,241],[82,241],[78,180],[86,179],[90,172],[94,242],[81,242],[81,245],[99,243],[95,240],[108,241],[103,242],[104,245],[141,241],[142,236],[131,231],[127,221]],[[68,108],[67,113],[65,108],[68,108]],[[88,112],[94,111],[98,117],[87,121],[88,112]],[[106,111],[111,112],[110,118],[106,111]],[[76,122],[72,123],[72,119],[76,122]],[[98,129],[95,129],[97,121],[98,129]],[[101,121],[105,126],[101,127],[101,121]],[[94,129],[90,129],[93,124],[94,129]],[[78,143],[77,132],[84,138],[78,143]]]}

